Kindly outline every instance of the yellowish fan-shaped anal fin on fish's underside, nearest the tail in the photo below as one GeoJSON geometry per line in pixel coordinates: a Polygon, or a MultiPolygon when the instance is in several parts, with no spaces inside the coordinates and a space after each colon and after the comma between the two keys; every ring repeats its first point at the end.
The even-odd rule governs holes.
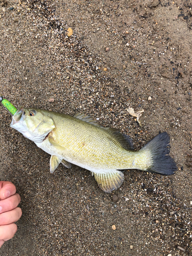
{"type": "Polygon", "coordinates": [[[111,193],[111,191],[120,187],[124,181],[124,175],[119,170],[108,174],[94,173],[94,176],[98,186],[106,193],[111,193]]]}

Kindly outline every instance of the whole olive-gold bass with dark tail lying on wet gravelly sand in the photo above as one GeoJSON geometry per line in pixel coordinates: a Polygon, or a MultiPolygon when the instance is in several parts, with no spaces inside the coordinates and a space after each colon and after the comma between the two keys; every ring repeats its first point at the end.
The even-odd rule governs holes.
{"type": "Polygon", "coordinates": [[[48,110],[19,108],[10,126],[51,155],[50,172],[61,163],[90,170],[106,193],[119,188],[124,169],[172,175],[177,165],[169,156],[169,136],[160,133],[139,151],[128,135],[103,127],[85,114],[70,116],[48,110]]]}

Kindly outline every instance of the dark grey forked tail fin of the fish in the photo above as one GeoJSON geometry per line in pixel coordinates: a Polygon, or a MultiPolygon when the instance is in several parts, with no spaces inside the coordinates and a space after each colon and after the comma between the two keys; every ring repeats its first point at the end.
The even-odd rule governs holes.
{"type": "Polygon", "coordinates": [[[144,145],[140,151],[143,150],[150,150],[152,154],[152,164],[147,168],[148,172],[171,175],[177,170],[174,159],[169,156],[169,136],[166,132],[160,133],[144,145]]]}

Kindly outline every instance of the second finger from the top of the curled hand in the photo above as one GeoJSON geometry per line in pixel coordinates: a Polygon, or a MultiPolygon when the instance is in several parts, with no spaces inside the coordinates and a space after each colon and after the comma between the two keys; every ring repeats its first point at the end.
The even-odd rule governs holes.
{"type": "Polygon", "coordinates": [[[19,194],[15,194],[9,198],[0,201],[0,214],[6,211],[13,210],[20,203],[19,194]]]}

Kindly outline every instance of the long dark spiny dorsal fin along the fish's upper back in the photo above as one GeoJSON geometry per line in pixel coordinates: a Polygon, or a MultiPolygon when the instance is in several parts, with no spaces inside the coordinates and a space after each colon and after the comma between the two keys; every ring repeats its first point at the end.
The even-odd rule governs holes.
{"type": "Polygon", "coordinates": [[[74,115],[74,117],[82,121],[91,123],[101,129],[104,129],[105,131],[108,131],[108,133],[111,133],[111,135],[115,136],[116,140],[118,140],[118,142],[123,148],[125,148],[125,150],[134,150],[133,142],[129,135],[122,134],[115,128],[103,127],[102,125],[98,124],[96,120],[93,120],[91,117],[85,114],[78,113],[74,115]]]}

